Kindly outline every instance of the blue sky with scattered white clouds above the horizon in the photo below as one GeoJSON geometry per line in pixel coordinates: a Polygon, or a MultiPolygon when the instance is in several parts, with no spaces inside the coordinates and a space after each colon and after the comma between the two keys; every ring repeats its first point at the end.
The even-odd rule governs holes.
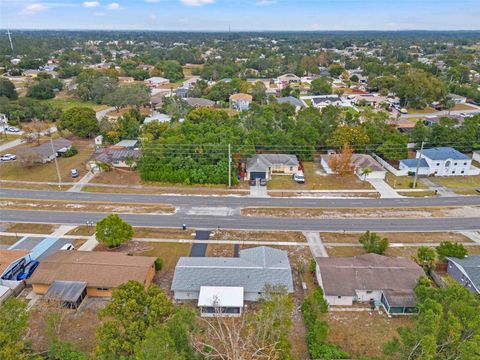
{"type": "Polygon", "coordinates": [[[480,30],[480,0],[0,0],[0,28],[480,30]]]}

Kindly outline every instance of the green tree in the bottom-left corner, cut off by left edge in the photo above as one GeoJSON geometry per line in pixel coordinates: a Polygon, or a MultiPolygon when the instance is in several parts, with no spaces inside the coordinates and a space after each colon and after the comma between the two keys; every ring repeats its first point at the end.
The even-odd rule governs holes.
{"type": "Polygon", "coordinates": [[[0,306],[0,359],[27,359],[23,340],[28,330],[27,305],[16,298],[0,306]]]}

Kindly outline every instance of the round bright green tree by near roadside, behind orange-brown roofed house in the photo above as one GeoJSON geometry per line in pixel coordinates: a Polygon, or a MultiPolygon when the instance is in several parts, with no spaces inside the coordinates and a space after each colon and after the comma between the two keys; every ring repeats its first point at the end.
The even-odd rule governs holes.
{"type": "Polygon", "coordinates": [[[117,214],[110,214],[97,222],[95,236],[99,242],[112,248],[132,240],[133,227],[117,214]]]}

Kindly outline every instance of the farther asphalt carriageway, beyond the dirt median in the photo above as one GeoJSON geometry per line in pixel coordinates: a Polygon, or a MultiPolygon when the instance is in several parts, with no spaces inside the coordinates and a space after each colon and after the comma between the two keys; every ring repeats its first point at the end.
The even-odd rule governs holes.
{"type": "Polygon", "coordinates": [[[1,197],[67,201],[99,201],[120,203],[165,203],[180,208],[222,206],[280,206],[280,207],[422,207],[480,205],[480,196],[400,198],[400,199],[314,199],[314,198],[251,198],[247,196],[182,196],[153,194],[109,194],[88,192],[59,192],[43,190],[1,189],[1,197]]]}

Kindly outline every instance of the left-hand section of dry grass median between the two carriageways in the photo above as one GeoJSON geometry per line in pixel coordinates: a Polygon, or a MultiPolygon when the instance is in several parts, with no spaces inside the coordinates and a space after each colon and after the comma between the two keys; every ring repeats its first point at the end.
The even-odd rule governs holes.
{"type": "Polygon", "coordinates": [[[62,201],[62,200],[30,200],[9,199],[0,200],[0,206],[15,210],[48,210],[48,211],[83,211],[109,212],[118,214],[172,214],[175,207],[167,204],[124,204],[99,203],[93,201],[62,201]]]}

